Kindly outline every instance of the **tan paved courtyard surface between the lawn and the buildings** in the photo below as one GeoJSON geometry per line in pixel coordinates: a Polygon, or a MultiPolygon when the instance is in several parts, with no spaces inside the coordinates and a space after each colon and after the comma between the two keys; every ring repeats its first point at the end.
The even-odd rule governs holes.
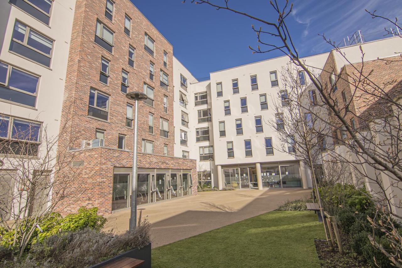
{"type": "MultiPolygon", "coordinates": [[[[152,225],[152,247],[160,247],[278,208],[287,200],[310,196],[309,189],[269,189],[200,192],[156,204],[140,206],[137,214],[152,225]]],[[[130,210],[106,216],[105,230],[128,229],[130,210]]]]}

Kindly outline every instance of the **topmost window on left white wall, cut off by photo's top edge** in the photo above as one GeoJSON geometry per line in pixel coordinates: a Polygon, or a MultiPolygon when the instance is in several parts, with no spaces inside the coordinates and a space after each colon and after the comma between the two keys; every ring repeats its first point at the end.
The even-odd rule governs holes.
{"type": "Polygon", "coordinates": [[[10,4],[21,8],[35,19],[49,25],[53,0],[10,0],[10,4]]]}

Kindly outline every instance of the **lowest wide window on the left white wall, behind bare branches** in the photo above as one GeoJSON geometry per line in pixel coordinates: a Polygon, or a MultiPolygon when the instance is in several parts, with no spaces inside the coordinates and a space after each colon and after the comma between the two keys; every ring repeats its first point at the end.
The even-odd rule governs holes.
{"type": "Polygon", "coordinates": [[[0,115],[1,154],[35,156],[40,138],[40,123],[0,115]]]}

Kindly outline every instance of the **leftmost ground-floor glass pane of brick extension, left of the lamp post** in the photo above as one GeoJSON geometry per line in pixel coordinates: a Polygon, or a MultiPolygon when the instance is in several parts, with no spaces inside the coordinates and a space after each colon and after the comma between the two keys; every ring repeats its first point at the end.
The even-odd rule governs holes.
{"type": "Polygon", "coordinates": [[[129,174],[113,175],[112,210],[128,208],[129,174]]]}

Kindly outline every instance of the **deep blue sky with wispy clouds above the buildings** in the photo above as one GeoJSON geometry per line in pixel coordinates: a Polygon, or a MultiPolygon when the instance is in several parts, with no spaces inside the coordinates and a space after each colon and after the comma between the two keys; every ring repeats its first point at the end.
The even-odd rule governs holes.
{"type": "MultiPolygon", "coordinates": [[[[147,19],[173,45],[174,56],[199,81],[208,80],[209,73],[234,66],[283,56],[281,52],[252,54],[256,33],[252,19],[228,10],[216,10],[207,4],[192,4],[190,0],[131,0],[147,19]]],[[[224,4],[224,0],[211,0],[224,4]]],[[[278,0],[280,5],[285,0],[278,0]]],[[[393,27],[382,19],[372,19],[365,9],[390,19],[400,17],[402,0],[289,0],[293,11],[287,18],[291,37],[301,56],[330,50],[318,34],[325,34],[336,44],[361,30],[365,41],[381,39],[384,27],[393,27]]],[[[265,21],[275,22],[277,14],[268,0],[230,0],[230,7],[265,21]]],[[[402,18],[401,18],[402,20],[402,18]]],[[[263,26],[263,30],[269,30],[263,26]]],[[[277,42],[266,36],[264,41],[277,42]]],[[[263,48],[262,48],[263,49],[263,48]]]]}

